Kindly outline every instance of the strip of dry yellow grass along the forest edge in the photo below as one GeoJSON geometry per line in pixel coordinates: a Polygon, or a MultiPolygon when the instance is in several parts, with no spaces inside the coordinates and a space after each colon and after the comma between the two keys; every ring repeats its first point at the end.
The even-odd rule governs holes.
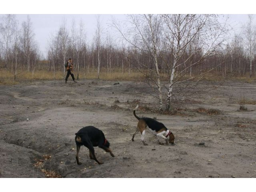
{"type": "MultiPolygon", "coordinates": [[[[65,74],[66,75],[66,74],[65,74]]],[[[77,77],[77,72],[74,72],[75,78],[77,77]]],[[[193,77],[193,76],[192,76],[193,77]]],[[[71,77],[69,77],[71,78],[71,77]]],[[[94,72],[80,72],[79,74],[79,79],[97,79],[98,74],[97,70],[94,70],[94,72]]],[[[129,72],[125,71],[122,73],[122,70],[120,69],[115,69],[111,73],[107,72],[106,69],[102,69],[100,71],[100,79],[101,80],[129,80],[129,81],[140,81],[144,80],[146,77],[144,74],[140,73],[139,71],[132,70],[129,74],[129,72]]],[[[183,76],[180,80],[185,80],[191,78],[190,76],[186,75],[183,76]]],[[[48,72],[44,70],[38,70],[35,71],[34,73],[28,72],[28,71],[18,71],[17,76],[16,76],[16,81],[14,81],[14,74],[11,73],[10,71],[3,70],[0,73],[0,84],[2,85],[13,85],[17,84],[21,81],[24,80],[63,80],[64,75],[63,72],[55,72],[55,76],[53,72],[48,72]]],[[[161,74],[161,80],[166,81],[168,80],[168,74],[161,74]]],[[[209,76],[204,76],[202,80],[210,80],[210,81],[221,81],[225,78],[223,78],[220,74],[214,74],[210,73],[209,76]]],[[[231,80],[239,80],[242,82],[248,82],[252,83],[254,80],[256,80],[255,77],[250,78],[248,75],[242,76],[242,77],[227,77],[226,79],[231,79],[231,80]]],[[[194,78],[193,80],[198,80],[198,78],[194,78]]]]}

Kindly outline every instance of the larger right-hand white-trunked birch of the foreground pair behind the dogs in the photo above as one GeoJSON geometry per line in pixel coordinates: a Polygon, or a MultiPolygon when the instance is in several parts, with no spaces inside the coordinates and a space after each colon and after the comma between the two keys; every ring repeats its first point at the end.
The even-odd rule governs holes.
{"type": "Polygon", "coordinates": [[[165,87],[168,90],[166,107],[168,110],[171,110],[174,86],[188,82],[193,78],[200,78],[200,76],[206,73],[200,70],[200,73],[196,77],[182,80],[188,68],[197,65],[210,56],[214,53],[214,50],[222,44],[226,30],[225,24],[221,25],[215,15],[164,14],[161,18],[166,48],[171,56],[169,60],[165,61],[169,74],[169,85],[165,87]],[[190,52],[190,55],[186,56],[186,58],[184,55],[188,54],[186,50],[195,40],[197,42],[198,40],[200,41],[196,46],[196,51],[203,50],[203,54],[200,58],[194,60],[194,62],[185,65],[194,52],[190,52]]]}

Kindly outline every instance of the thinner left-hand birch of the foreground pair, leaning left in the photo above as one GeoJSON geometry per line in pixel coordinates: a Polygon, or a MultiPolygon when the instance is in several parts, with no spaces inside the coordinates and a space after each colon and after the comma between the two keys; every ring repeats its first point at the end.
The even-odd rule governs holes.
{"type": "MultiPolygon", "coordinates": [[[[154,86],[156,86],[156,89],[154,88],[154,86],[151,87],[158,95],[159,111],[162,111],[162,83],[160,81],[160,72],[158,66],[158,49],[161,40],[159,20],[160,17],[158,15],[152,14],[130,15],[129,17],[132,27],[128,29],[127,34],[123,32],[122,26],[118,22],[116,22],[116,20],[113,20],[113,25],[118,30],[118,32],[120,32],[122,38],[124,38],[124,40],[126,40],[130,45],[133,46],[134,51],[137,54],[138,52],[146,54],[146,56],[151,58],[152,62],[154,63],[154,69],[152,69],[147,64],[140,62],[138,57],[137,59],[134,59],[138,66],[141,66],[148,71],[148,73],[146,74],[142,72],[138,67],[138,70],[140,70],[147,76],[149,80],[148,83],[154,84],[154,86]]],[[[132,58],[129,58],[128,60],[132,60],[132,58]]]]}

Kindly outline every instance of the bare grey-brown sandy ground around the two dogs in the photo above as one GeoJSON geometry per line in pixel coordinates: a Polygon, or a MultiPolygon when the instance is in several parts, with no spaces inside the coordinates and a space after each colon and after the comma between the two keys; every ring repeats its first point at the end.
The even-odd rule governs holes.
{"type": "Polygon", "coordinates": [[[239,100],[256,100],[256,83],[224,82],[183,105],[179,115],[145,110],[156,98],[142,82],[80,80],[24,82],[0,86],[0,177],[2,178],[255,178],[256,106],[238,110],[239,100]],[[176,137],[159,145],[146,132],[131,141],[138,116],[156,118],[176,137]],[[196,112],[218,109],[221,114],[196,112]],[[115,157],[86,147],[76,164],[74,134],[82,127],[101,129],[115,157]],[[201,144],[200,144],[201,143],[201,144]],[[204,143],[204,144],[202,144],[204,143]]]}

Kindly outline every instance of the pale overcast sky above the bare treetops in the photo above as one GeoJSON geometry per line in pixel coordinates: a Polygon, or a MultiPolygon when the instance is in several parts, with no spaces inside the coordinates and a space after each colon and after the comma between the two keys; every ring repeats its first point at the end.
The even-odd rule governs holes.
{"type": "MultiPolygon", "coordinates": [[[[96,14],[16,14],[20,26],[23,21],[27,20],[28,15],[31,18],[32,28],[35,34],[34,38],[44,54],[46,52],[50,34],[56,34],[64,19],[66,20],[67,27],[71,26],[72,20],[74,19],[77,28],[80,20],[82,20],[85,24],[87,42],[90,42],[95,34],[96,14]]],[[[111,23],[112,16],[118,20],[126,19],[125,14],[100,14],[100,20],[105,32],[106,30],[111,31],[109,24],[111,23]]],[[[247,14],[229,14],[225,16],[229,16],[230,24],[238,33],[240,32],[242,24],[248,20],[247,14]]]]}

